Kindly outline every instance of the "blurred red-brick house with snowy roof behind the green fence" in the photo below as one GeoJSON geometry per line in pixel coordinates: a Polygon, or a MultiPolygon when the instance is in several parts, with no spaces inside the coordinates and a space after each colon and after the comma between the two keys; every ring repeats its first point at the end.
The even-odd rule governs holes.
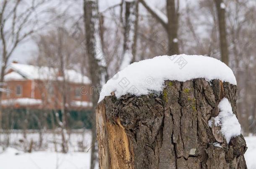
{"type": "Polygon", "coordinates": [[[65,96],[66,108],[89,109],[89,78],[74,70],[65,70],[63,74],[65,78],[57,68],[10,63],[4,77],[7,92],[2,97],[3,108],[60,110],[65,96]]]}

